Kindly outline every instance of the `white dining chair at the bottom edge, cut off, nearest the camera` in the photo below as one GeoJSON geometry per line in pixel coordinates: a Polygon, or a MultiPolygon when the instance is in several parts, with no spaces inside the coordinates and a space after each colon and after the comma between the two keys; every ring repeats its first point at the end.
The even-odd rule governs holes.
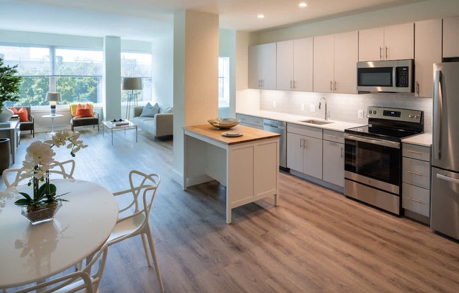
{"type": "Polygon", "coordinates": [[[108,246],[106,244],[101,247],[92,261],[82,269],[68,275],[63,275],[59,278],[41,282],[32,287],[19,289],[13,293],[26,292],[44,292],[44,293],[96,293],[99,292],[99,285],[105,269],[107,260],[108,246]]]}

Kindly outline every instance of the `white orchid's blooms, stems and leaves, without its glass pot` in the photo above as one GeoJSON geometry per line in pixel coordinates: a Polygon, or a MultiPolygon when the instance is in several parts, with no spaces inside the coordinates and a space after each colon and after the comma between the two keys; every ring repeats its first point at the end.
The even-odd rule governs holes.
{"type": "Polygon", "coordinates": [[[19,192],[24,198],[15,201],[15,205],[41,206],[65,201],[65,199],[59,198],[63,194],[56,195],[56,185],[49,183],[49,170],[56,155],[52,148],[53,146],[61,147],[66,145],[67,149],[70,149],[70,155],[75,157],[77,151],[87,147],[79,138],[80,132],[62,130],[61,132],[56,132],[56,135],[53,135],[50,140],[32,142],[27,147],[27,154],[23,161],[23,170],[26,170],[26,172],[21,174],[21,177],[30,177],[27,185],[33,185],[33,196],[30,197],[25,192],[19,192]],[[44,182],[44,184],[40,187],[39,182],[44,182]]]}

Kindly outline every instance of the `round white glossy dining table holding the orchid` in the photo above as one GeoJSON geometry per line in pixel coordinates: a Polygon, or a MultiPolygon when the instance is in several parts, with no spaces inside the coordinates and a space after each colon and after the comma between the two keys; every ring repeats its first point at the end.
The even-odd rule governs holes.
{"type": "Polygon", "coordinates": [[[14,202],[27,185],[0,192],[0,288],[42,282],[96,252],[118,219],[118,204],[105,187],[84,180],[52,180],[63,206],[54,220],[32,225],[14,202]]]}

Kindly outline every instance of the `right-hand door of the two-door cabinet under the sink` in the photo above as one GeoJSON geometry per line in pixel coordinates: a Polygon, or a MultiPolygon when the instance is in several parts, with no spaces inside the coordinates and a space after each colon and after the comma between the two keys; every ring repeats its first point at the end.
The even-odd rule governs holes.
{"type": "Polygon", "coordinates": [[[322,179],[322,139],[303,137],[303,173],[322,179]]]}

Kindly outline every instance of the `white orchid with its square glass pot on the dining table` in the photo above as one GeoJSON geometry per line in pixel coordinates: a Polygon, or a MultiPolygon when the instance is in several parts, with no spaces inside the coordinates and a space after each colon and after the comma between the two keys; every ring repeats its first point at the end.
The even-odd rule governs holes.
{"type": "Polygon", "coordinates": [[[66,201],[61,199],[64,194],[57,194],[56,185],[49,182],[49,170],[56,155],[52,148],[65,146],[68,143],[70,155],[75,157],[77,151],[87,147],[82,140],[78,140],[79,137],[79,132],[63,130],[56,132],[51,140],[32,142],[27,147],[21,177],[30,177],[27,185],[32,186],[32,194],[19,192],[24,198],[15,201],[15,205],[23,207],[23,216],[30,220],[30,223],[52,220],[61,206],[60,201],[66,201]],[[42,186],[40,182],[43,182],[42,186]]]}

